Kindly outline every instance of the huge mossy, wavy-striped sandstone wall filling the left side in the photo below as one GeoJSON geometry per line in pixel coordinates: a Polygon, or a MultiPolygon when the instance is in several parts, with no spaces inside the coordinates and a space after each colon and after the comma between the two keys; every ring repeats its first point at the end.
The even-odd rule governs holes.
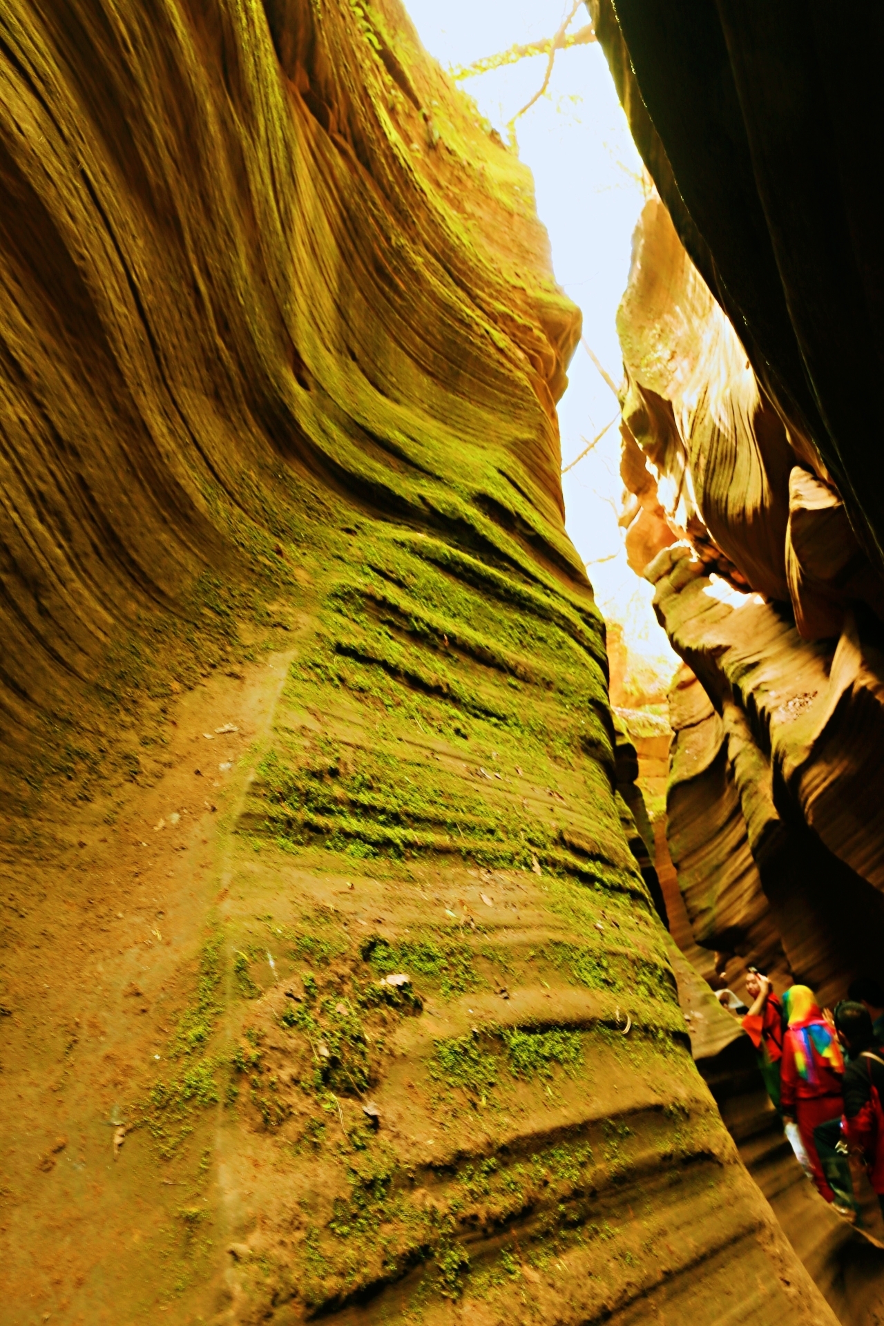
{"type": "Polygon", "coordinates": [[[527,174],[394,0],[0,70],[0,1314],[831,1322],[615,796],[527,174]]]}

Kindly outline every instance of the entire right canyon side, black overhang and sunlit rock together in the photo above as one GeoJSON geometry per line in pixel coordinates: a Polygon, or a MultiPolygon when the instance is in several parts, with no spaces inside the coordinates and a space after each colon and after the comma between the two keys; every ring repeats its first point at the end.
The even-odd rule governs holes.
{"type": "MultiPolygon", "coordinates": [[[[657,865],[697,969],[714,953],[738,984],[754,961],[831,1002],[884,941],[880,244],[838,147],[880,33],[831,46],[775,5],[590,9],[656,186],[618,328],[627,554],[684,660],[657,865]]],[[[692,1012],[694,1057],[744,1159],[839,1319],[873,1319],[880,1246],[795,1184],[746,1038],[710,1044],[713,1018],[724,1034],[692,1012]]]]}

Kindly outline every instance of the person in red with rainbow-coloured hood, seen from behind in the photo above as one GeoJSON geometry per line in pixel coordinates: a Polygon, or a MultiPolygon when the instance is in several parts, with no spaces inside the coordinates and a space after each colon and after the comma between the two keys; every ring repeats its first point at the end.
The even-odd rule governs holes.
{"type": "Polygon", "coordinates": [[[843,1113],[844,1058],[838,1036],[807,985],[787,989],[782,1005],[787,1025],[779,1063],[779,1110],[783,1119],[798,1123],[814,1183],[831,1203],[835,1193],[823,1171],[814,1130],[843,1113]]]}

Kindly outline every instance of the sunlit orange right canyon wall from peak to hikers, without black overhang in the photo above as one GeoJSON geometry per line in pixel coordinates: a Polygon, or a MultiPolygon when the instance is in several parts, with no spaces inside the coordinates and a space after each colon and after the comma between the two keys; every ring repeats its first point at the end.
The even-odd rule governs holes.
{"type": "MultiPolygon", "coordinates": [[[[757,930],[770,927],[758,871],[783,834],[811,830],[860,894],[860,880],[884,886],[881,582],[831,481],[804,468],[763,404],[656,200],[635,252],[619,313],[627,512],[635,501],[655,514],[643,546],[667,550],[645,574],[692,670],[671,696],[669,846],[697,939],[775,963],[757,930]]],[[[846,936],[844,972],[865,952],[846,936]]],[[[836,965],[820,959],[815,979],[834,980],[836,965]]],[[[806,956],[802,971],[814,975],[806,956]]]]}

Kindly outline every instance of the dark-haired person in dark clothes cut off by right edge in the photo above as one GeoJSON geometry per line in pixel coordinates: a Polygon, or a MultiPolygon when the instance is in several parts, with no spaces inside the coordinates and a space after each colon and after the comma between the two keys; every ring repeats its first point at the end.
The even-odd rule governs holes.
{"type": "Polygon", "coordinates": [[[842,1082],[842,1135],[850,1152],[868,1170],[884,1215],[884,1050],[875,1040],[872,1017],[864,1004],[855,1000],[839,1004],[835,1028],[848,1054],[842,1082]]]}

